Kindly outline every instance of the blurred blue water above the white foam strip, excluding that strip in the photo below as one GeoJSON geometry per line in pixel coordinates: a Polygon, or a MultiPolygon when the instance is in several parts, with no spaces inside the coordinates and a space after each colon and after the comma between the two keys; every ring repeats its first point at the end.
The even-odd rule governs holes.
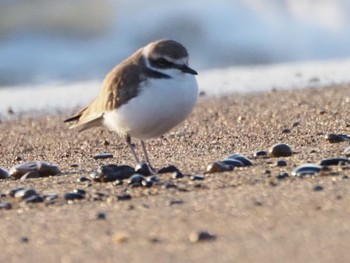
{"type": "Polygon", "coordinates": [[[348,0],[0,0],[0,87],[99,80],[173,38],[198,70],[350,57],[348,0]]]}

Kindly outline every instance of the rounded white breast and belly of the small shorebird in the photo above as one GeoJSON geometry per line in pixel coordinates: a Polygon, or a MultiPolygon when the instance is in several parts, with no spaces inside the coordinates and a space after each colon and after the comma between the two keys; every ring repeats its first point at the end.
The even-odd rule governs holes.
{"type": "Polygon", "coordinates": [[[194,76],[149,79],[137,97],[104,114],[104,125],[121,135],[141,140],[159,137],[192,112],[198,96],[194,76]]]}

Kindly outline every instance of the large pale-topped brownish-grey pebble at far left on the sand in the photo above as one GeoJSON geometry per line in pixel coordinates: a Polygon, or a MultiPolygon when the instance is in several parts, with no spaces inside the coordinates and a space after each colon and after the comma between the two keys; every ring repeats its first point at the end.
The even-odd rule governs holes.
{"type": "Polygon", "coordinates": [[[28,172],[36,172],[40,177],[57,175],[61,173],[58,166],[42,161],[21,163],[13,166],[10,169],[10,175],[17,179],[21,178],[28,172]]]}

